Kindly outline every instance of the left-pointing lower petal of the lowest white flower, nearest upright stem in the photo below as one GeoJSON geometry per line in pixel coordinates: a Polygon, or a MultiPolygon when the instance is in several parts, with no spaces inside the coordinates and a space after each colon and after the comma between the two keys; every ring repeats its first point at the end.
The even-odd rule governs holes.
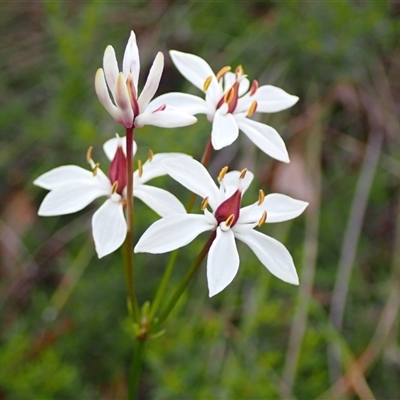
{"type": "Polygon", "coordinates": [[[204,215],[173,214],[156,221],[142,235],[135,253],[166,253],[183,247],[200,233],[213,230],[204,215]]]}

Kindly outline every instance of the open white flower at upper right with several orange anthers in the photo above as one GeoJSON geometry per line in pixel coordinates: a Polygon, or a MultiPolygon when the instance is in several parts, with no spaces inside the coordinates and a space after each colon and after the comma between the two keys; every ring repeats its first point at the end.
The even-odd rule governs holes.
{"type": "Polygon", "coordinates": [[[189,114],[206,114],[212,122],[211,142],[216,150],[232,144],[239,129],[264,153],[277,160],[289,162],[285,143],[278,132],[265,124],[249,119],[257,112],[277,112],[291,107],[298,97],[275,86],[258,87],[239,66],[235,73],[224,67],[214,74],[202,58],[171,50],[170,55],[179,72],[193,85],[205,92],[205,100],[184,93],[167,93],[154,99],[151,107],[164,103],[179,107],[189,114]]]}

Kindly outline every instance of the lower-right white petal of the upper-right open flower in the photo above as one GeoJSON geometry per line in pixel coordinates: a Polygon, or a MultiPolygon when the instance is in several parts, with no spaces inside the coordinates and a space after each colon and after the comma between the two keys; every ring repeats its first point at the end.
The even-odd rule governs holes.
{"type": "Polygon", "coordinates": [[[260,150],[279,161],[290,162],[285,142],[274,128],[244,116],[235,117],[239,128],[260,150]]]}

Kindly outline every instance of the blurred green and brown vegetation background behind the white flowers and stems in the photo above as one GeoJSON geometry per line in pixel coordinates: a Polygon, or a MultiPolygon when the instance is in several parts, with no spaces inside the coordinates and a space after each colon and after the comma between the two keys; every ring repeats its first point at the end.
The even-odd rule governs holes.
{"type": "MultiPolygon", "coordinates": [[[[234,282],[209,299],[205,266],[149,342],[143,399],[394,399],[400,393],[400,3],[397,1],[85,1],[0,5],[0,399],[119,399],[132,356],[121,254],[95,255],[91,217],[42,218],[40,174],[85,154],[107,170],[104,141],[123,130],[93,80],[112,44],[121,61],[136,32],[140,85],[158,51],[158,93],[200,94],[168,50],[215,71],[241,64],[260,85],[300,101],[258,116],[282,134],[292,162],[273,162],[244,135],[214,153],[247,167],[258,189],[310,202],[294,221],[261,230],[282,241],[300,276],[273,277],[246,246],[234,282]]],[[[138,158],[187,152],[210,134],[138,131],[138,158]]],[[[183,201],[168,178],[155,184],[183,201]]],[[[157,219],[135,202],[135,237],[157,219]]],[[[179,254],[176,285],[206,236],[179,254]]],[[[151,300],[167,255],[135,256],[140,302],[151,300]]]]}

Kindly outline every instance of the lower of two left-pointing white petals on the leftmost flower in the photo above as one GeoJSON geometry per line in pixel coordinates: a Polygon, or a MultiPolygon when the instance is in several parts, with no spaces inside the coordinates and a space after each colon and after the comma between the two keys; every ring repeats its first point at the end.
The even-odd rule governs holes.
{"type": "Polygon", "coordinates": [[[43,199],[38,214],[49,217],[53,215],[71,214],[82,210],[94,199],[110,193],[97,184],[69,183],[53,189],[43,199]]]}

